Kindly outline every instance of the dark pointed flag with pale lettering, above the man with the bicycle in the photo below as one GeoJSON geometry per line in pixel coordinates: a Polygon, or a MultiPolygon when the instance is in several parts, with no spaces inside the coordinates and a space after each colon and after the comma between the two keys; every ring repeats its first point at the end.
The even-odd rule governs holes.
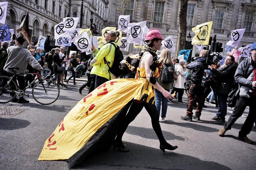
{"type": "Polygon", "coordinates": [[[27,40],[27,42],[30,44],[30,40],[32,37],[32,29],[28,28],[28,11],[26,13],[25,18],[23,19],[22,23],[20,24],[20,27],[16,29],[16,32],[21,32],[21,34],[24,36],[24,38],[27,40]]]}

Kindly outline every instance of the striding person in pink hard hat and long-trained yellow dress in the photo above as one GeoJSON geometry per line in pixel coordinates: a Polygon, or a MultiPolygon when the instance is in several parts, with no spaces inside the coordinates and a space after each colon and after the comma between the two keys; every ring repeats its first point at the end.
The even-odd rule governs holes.
{"type": "Polygon", "coordinates": [[[154,105],[154,88],[167,99],[173,99],[155,79],[161,72],[156,50],[160,49],[162,39],[158,30],[149,30],[145,37],[149,47],[141,58],[135,79],[107,81],[79,101],[46,139],[38,160],[69,160],[72,168],[89,154],[107,151],[112,145],[127,152],[121,138],[143,107],[149,112],[160,149],[163,152],[176,149],[177,146],[171,146],[163,138],[154,105]]]}

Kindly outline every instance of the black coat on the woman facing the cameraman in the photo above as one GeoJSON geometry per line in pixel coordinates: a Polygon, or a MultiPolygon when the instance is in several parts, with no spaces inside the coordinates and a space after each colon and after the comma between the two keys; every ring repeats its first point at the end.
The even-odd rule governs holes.
{"type": "Polygon", "coordinates": [[[237,86],[237,83],[235,83],[234,79],[237,67],[238,63],[233,63],[227,65],[221,71],[212,69],[212,73],[216,74],[219,77],[217,83],[217,93],[228,94],[230,93],[232,88],[237,86]]]}

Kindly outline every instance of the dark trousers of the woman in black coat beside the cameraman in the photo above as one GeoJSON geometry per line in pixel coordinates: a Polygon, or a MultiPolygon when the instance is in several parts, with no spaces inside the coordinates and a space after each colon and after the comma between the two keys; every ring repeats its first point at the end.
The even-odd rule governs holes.
{"type": "Polygon", "coordinates": [[[227,115],[227,99],[228,94],[217,94],[218,98],[218,113],[216,116],[220,117],[222,121],[225,121],[225,116],[227,115]]]}

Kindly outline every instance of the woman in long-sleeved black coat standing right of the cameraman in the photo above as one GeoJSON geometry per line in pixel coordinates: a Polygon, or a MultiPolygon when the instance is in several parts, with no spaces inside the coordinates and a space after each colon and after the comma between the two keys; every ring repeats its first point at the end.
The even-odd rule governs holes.
{"type": "Polygon", "coordinates": [[[222,65],[220,71],[212,68],[210,65],[208,68],[212,70],[212,73],[216,74],[219,77],[217,83],[217,97],[218,97],[218,113],[213,117],[214,124],[223,124],[225,123],[225,116],[227,115],[227,99],[228,93],[236,85],[234,75],[238,63],[235,62],[235,57],[233,55],[227,55],[225,59],[225,64],[222,65]]]}

